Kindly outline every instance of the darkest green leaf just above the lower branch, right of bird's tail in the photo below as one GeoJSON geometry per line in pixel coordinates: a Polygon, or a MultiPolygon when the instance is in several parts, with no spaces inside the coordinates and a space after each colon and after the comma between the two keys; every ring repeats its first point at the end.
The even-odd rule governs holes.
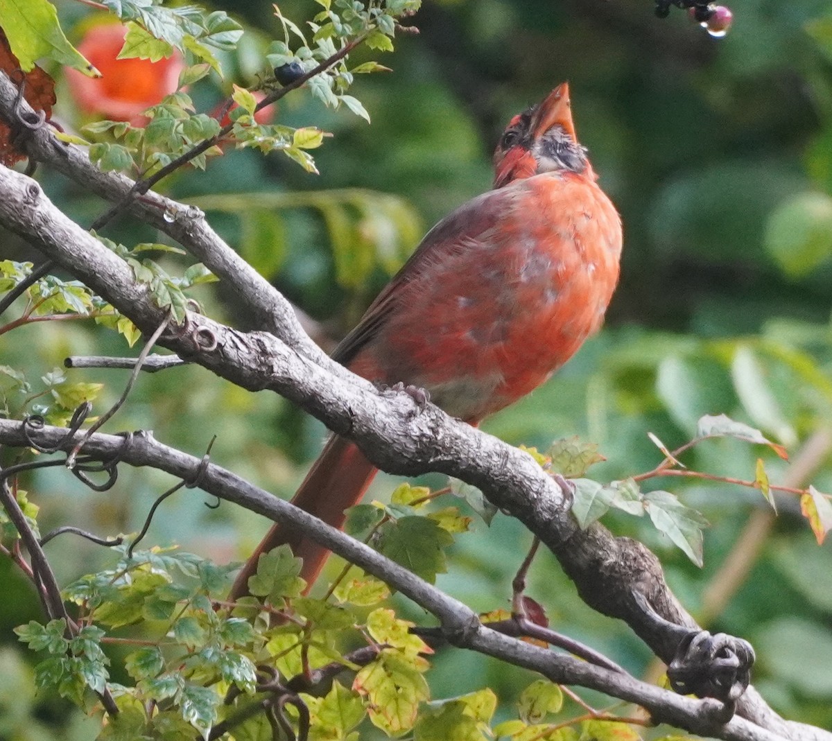
{"type": "Polygon", "coordinates": [[[448,531],[425,517],[401,517],[385,525],[379,536],[379,552],[413,571],[430,584],[447,571],[443,549],[453,542],[448,531]]]}

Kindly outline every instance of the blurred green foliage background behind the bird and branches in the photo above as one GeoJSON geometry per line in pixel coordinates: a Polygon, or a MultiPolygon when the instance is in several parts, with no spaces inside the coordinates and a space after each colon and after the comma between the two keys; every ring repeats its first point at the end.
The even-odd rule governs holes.
{"type": "MultiPolygon", "coordinates": [[[[80,3],[59,5],[70,29],[90,12],[80,3]]],[[[263,43],[281,37],[271,3],[221,7],[257,29],[229,60],[235,82],[252,84],[263,43]]],[[[298,22],[314,7],[311,0],[280,3],[298,22]]],[[[490,153],[508,118],[568,80],[578,136],[624,220],[622,282],[602,333],[546,388],[484,427],[508,442],[542,448],[576,434],[597,442],[607,462],[591,473],[602,480],[650,470],[661,454],[646,433],[676,447],[706,413],[750,422],[800,455],[832,419],[832,9],[822,0],[734,0],[730,8],[734,27],[716,40],[683,12],[657,19],[648,0],[426,2],[414,17],[420,33],[400,34],[396,52],[380,60],[394,72],[363,76],[351,91],[372,125],[325,109],[304,91],[280,101],[278,121],[334,134],[315,152],[320,175],[286,158],[229,151],[206,172],[177,175],[164,190],[181,200],[202,198],[230,244],[337,339],[423,231],[490,186],[490,153]]],[[[366,58],[354,55],[355,62],[366,58]]],[[[210,110],[230,82],[201,83],[192,91],[198,105],[210,110]]],[[[61,88],[58,116],[77,124],[72,102],[60,95],[61,88]]],[[[38,176],[83,225],[103,210],[77,185],[46,170],[38,176]]],[[[160,239],[130,220],[106,234],[127,245],[160,239]]],[[[25,245],[6,245],[2,257],[38,261],[25,245]]],[[[221,284],[201,289],[199,298],[211,314],[247,327],[221,284]]],[[[68,354],[126,354],[121,338],[92,323],[41,324],[0,342],[0,362],[29,368],[32,378],[68,354]]],[[[108,384],[98,412],[126,382],[122,372],[71,377],[108,384]]],[[[196,455],[217,434],[215,462],[280,496],[294,491],[324,436],[318,423],[280,398],[245,393],[200,368],[141,378],[109,428],[151,428],[196,455]]],[[[753,480],[758,457],[773,482],[787,475],[788,464],[737,441],[705,442],[684,460],[753,480]]],[[[810,482],[832,491],[829,451],[815,463],[810,482]]],[[[438,477],[428,482],[443,485],[438,477]]],[[[115,490],[96,494],[45,472],[25,484],[45,521],[110,533],[136,531],[170,482],[124,471],[115,490]]],[[[730,590],[727,605],[711,610],[703,595],[746,523],[760,521],[767,505],[759,492],[740,487],[679,480],[655,486],[711,521],[703,570],[649,522],[611,515],[607,526],[654,549],[686,607],[694,615],[708,608],[709,628],[755,645],[755,684],[775,709],[832,727],[832,553],[828,542],[815,543],[797,498],[779,498],[780,516],[760,536],[750,571],[730,590]]],[[[384,499],[392,487],[381,477],[372,496],[384,499]]],[[[201,502],[191,490],[166,501],[149,537],[228,561],[249,552],[265,531],[256,517],[228,505],[209,511],[201,502]]],[[[107,557],[64,538],[48,551],[62,583],[107,557]]],[[[477,610],[507,607],[529,541],[505,516],[490,528],[478,523],[458,538],[438,585],[477,610]]],[[[547,607],[556,630],[636,674],[647,670],[649,652],[625,626],[582,605],[551,556],[538,557],[529,592],[547,607]]],[[[12,626],[36,617],[37,606],[5,562],[0,594],[12,595],[0,600],[0,640],[12,643],[12,626]]],[[[411,616],[423,620],[417,611],[411,616]]],[[[27,670],[16,660],[0,654],[17,667],[0,672],[0,719],[11,718],[4,708],[13,696],[3,684],[27,670]]],[[[490,684],[508,704],[530,680],[519,669],[458,651],[438,655],[434,664],[436,697],[490,684]]],[[[35,712],[42,726],[0,720],[0,738],[52,738],[54,705],[35,712]]],[[[65,738],[89,737],[89,728],[72,724],[65,738]]]]}

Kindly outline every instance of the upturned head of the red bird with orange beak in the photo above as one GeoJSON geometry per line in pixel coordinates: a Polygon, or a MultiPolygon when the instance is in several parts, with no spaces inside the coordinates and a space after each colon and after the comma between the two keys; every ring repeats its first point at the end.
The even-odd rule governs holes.
{"type": "Polygon", "coordinates": [[[495,188],[554,171],[576,172],[594,179],[587,151],[577,143],[566,82],[542,103],[514,116],[494,151],[495,188]]]}

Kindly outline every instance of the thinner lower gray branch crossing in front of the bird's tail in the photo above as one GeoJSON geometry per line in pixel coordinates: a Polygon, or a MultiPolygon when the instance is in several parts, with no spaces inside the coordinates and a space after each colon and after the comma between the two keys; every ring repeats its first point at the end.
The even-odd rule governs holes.
{"type": "MultiPolygon", "coordinates": [[[[67,438],[66,429],[43,427],[29,432],[29,435],[42,447],[55,447],[60,443],[62,450],[69,451],[82,433],[67,438]]],[[[21,422],[0,420],[0,444],[25,447],[28,443],[21,422]]],[[[691,733],[729,741],[780,739],[777,734],[739,717],[728,724],[716,722],[716,714],[721,710],[721,703],[716,700],[681,697],[628,674],[603,669],[490,630],[480,623],[478,616],[467,605],[389,561],[369,546],[354,541],[343,532],[224,468],[212,463],[202,467],[201,459],[163,445],[150,435],[137,434],[126,440],[115,435],[94,433],[85,443],[83,452],[102,460],[117,456],[121,462],[131,466],[154,467],[189,481],[196,477],[203,491],[304,531],[329,550],[386,581],[428,610],[439,620],[448,640],[459,648],[475,650],[532,669],[559,684],[578,684],[639,704],[651,713],[656,722],[672,724],[691,733]]]]}

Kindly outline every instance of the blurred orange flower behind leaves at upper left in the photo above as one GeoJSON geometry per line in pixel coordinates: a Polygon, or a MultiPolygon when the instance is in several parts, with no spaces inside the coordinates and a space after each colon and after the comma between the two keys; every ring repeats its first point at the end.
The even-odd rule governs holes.
{"type": "Polygon", "coordinates": [[[146,122],[142,111],[176,91],[185,63],[178,52],[158,62],[116,59],[126,31],[121,23],[90,28],[78,44],[78,51],[102,72],[102,77],[86,77],[67,69],[67,82],[79,110],[87,116],[141,125],[146,122]]]}

